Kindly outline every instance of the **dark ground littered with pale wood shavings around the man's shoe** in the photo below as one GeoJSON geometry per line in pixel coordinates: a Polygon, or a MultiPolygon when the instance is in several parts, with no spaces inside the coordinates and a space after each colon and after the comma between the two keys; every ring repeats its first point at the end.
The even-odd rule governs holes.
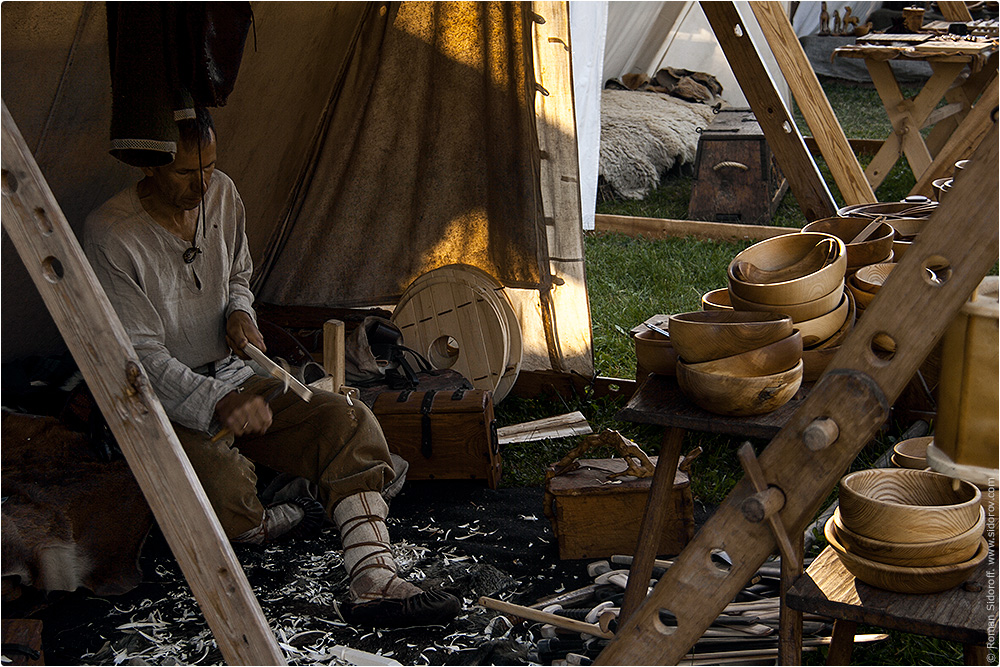
{"type": "MultiPolygon", "coordinates": [[[[340,622],[334,605],[346,599],[347,580],[333,527],[309,540],[238,546],[236,555],[291,664],[344,664],[337,646],[404,665],[538,664],[537,624],[512,626],[477,602],[485,595],[530,605],[591,583],[587,561],[559,560],[542,499],[538,487],[411,481],[392,501],[389,529],[404,576],[463,598],[462,614],[444,627],[373,632],[340,622]]],[[[224,662],[155,528],[141,565],[143,582],[126,595],[64,594],[35,610],[47,664],[224,662]]]]}

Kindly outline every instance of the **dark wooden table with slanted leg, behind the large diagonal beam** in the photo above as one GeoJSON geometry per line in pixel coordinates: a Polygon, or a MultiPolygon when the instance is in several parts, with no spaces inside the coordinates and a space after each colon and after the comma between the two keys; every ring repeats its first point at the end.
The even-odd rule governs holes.
{"type": "MultiPolygon", "coordinates": [[[[808,388],[800,389],[792,400],[773,412],[750,417],[727,417],[702,410],[693,404],[681,393],[676,378],[649,375],[617,415],[619,419],[625,421],[666,427],[659,460],[670,463],[657,466],[653,473],[653,482],[650,485],[639,534],[662,533],[668,508],[672,506],[670,493],[673,490],[676,463],[680,457],[681,441],[686,430],[769,439],[774,437],[791,418],[807,391],[808,388]]],[[[656,540],[640,538],[639,544],[636,545],[619,622],[623,622],[634,613],[646,597],[646,582],[653,572],[657,544],[656,540]]],[[[798,544],[800,546],[802,544],[801,536],[798,544]]]]}

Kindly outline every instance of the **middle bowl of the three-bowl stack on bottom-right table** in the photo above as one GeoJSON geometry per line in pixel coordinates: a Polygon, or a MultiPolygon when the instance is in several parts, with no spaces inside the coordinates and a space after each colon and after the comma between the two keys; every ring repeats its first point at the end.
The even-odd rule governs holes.
{"type": "Polygon", "coordinates": [[[980,510],[979,521],[964,533],[946,540],[922,543],[885,542],[859,535],[844,527],[839,509],[834,511],[830,521],[833,522],[837,540],[845,550],[856,556],[888,565],[933,567],[964,563],[976,554],[979,538],[983,536],[986,526],[986,513],[980,510]]]}

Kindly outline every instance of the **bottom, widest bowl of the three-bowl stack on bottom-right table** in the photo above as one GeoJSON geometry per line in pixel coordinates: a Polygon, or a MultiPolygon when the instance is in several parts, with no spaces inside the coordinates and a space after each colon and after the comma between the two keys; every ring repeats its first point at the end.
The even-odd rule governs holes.
{"type": "Polygon", "coordinates": [[[827,521],[824,533],[830,548],[837,553],[840,562],[844,564],[848,572],[869,586],[896,593],[926,595],[954,588],[971,577],[989,553],[989,544],[986,542],[986,538],[980,538],[976,553],[963,563],[935,567],[887,565],[855,556],[847,551],[837,539],[837,535],[832,529],[832,521],[827,521]]]}

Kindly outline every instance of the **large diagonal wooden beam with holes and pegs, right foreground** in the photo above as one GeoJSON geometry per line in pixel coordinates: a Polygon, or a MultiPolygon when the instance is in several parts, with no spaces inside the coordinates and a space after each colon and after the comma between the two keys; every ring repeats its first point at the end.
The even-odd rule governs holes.
{"type": "MultiPolygon", "coordinates": [[[[994,120],[951,196],[931,215],[802,406],[758,457],[763,481],[784,497],[772,516],[788,534],[802,534],[996,262],[998,138],[994,120]],[[990,187],[981,187],[984,183],[990,187]],[[927,267],[942,264],[949,270],[938,283],[927,267]],[[877,337],[884,341],[882,336],[894,342],[894,353],[874,344],[877,337]]],[[[737,483],[596,664],[672,665],[684,657],[775,550],[775,524],[749,521],[741,509],[758,493],[762,480],[755,481],[747,475],[737,483]],[[712,561],[719,549],[732,559],[728,570],[712,561]],[[660,622],[660,609],[674,612],[675,628],[660,622]]],[[[781,662],[799,660],[785,650],[781,662]]]]}

